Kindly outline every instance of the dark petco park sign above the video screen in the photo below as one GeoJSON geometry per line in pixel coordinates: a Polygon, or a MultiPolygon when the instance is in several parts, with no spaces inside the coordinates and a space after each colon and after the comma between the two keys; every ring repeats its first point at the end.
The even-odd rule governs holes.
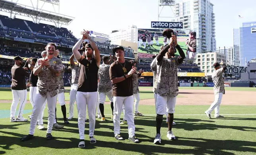
{"type": "Polygon", "coordinates": [[[183,28],[182,22],[151,21],[151,28],[183,28]]]}

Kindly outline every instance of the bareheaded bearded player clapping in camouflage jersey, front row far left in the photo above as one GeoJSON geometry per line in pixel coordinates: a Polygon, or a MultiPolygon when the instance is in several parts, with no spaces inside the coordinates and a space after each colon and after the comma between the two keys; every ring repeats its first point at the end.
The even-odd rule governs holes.
{"type": "Polygon", "coordinates": [[[35,126],[37,124],[37,119],[46,99],[48,103],[48,126],[46,140],[53,139],[51,132],[55,118],[54,110],[56,108],[59,87],[58,76],[60,76],[60,70],[62,69],[62,61],[53,55],[56,52],[56,45],[54,43],[48,43],[45,49],[47,50],[47,57],[37,60],[37,63],[33,69],[34,75],[38,75],[35,106],[33,107],[33,112],[31,115],[29,134],[21,138],[22,142],[34,138],[33,135],[35,132],[35,126]]]}

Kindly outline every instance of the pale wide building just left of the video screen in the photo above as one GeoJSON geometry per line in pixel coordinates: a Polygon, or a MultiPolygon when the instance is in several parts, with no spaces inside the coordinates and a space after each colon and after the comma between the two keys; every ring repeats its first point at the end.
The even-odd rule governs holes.
{"type": "Polygon", "coordinates": [[[118,40],[124,40],[127,42],[138,43],[138,28],[135,25],[131,25],[128,28],[121,30],[113,30],[109,35],[109,39],[112,44],[117,44],[118,40]]]}

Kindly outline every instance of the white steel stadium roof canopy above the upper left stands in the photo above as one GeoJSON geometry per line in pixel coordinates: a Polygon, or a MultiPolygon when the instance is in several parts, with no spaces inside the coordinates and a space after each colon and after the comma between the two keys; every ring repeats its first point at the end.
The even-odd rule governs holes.
{"type": "MultiPolygon", "coordinates": [[[[75,19],[74,17],[62,15],[60,13],[37,9],[30,6],[25,6],[23,4],[9,2],[6,0],[0,0],[0,11],[12,13],[14,15],[31,17],[33,19],[39,19],[39,21],[49,21],[61,25],[69,25],[75,19]]],[[[39,21],[37,23],[39,23],[39,21]]]]}

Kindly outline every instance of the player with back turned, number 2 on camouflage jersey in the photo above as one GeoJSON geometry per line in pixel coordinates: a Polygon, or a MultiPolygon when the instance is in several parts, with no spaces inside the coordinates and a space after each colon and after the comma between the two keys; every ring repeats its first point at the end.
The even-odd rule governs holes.
{"type": "MultiPolygon", "coordinates": [[[[111,109],[112,109],[112,117],[113,117],[113,109],[114,109],[114,103],[112,98],[112,82],[110,80],[109,76],[109,63],[112,61],[112,57],[110,54],[110,59],[108,56],[102,57],[103,64],[99,66],[99,109],[101,111],[101,121],[105,121],[105,115],[104,115],[104,103],[106,100],[106,95],[109,98],[109,101],[111,102],[111,109]]],[[[111,117],[111,118],[112,118],[111,117]]]]}

